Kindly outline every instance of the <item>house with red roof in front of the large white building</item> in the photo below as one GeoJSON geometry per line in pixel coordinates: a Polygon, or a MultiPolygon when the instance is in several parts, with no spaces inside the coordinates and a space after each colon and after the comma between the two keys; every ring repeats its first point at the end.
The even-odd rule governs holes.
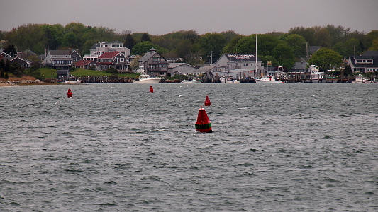
{"type": "Polygon", "coordinates": [[[128,71],[129,65],[126,56],[121,52],[105,52],[98,57],[96,70],[105,71],[106,69],[114,68],[123,73],[128,71]]]}

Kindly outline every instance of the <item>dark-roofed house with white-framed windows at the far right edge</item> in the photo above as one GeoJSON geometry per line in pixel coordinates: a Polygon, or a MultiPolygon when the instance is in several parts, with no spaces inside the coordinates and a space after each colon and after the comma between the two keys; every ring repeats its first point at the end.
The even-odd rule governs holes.
{"type": "Polygon", "coordinates": [[[367,51],[362,55],[350,56],[348,65],[353,72],[367,73],[378,71],[378,51],[367,51]]]}

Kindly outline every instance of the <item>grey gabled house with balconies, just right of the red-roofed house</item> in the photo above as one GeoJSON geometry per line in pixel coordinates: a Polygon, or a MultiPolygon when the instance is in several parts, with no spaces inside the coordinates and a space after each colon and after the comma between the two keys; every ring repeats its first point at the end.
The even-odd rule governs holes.
{"type": "Polygon", "coordinates": [[[150,52],[145,53],[138,62],[139,67],[142,67],[149,75],[167,76],[168,62],[154,48],[150,49],[150,52]]]}

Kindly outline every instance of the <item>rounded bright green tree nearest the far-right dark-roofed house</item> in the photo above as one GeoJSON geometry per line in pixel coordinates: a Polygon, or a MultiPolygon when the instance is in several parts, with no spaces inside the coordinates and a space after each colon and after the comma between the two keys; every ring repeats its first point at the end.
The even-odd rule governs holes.
{"type": "Polygon", "coordinates": [[[313,54],[308,63],[318,66],[321,71],[327,71],[340,67],[343,57],[331,49],[321,48],[313,54]]]}

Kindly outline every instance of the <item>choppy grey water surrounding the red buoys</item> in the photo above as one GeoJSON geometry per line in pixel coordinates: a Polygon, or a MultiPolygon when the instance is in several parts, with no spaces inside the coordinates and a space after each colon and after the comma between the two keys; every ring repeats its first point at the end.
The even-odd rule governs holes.
{"type": "Polygon", "coordinates": [[[3,87],[0,211],[378,211],[377,86],[3,87]]]}

